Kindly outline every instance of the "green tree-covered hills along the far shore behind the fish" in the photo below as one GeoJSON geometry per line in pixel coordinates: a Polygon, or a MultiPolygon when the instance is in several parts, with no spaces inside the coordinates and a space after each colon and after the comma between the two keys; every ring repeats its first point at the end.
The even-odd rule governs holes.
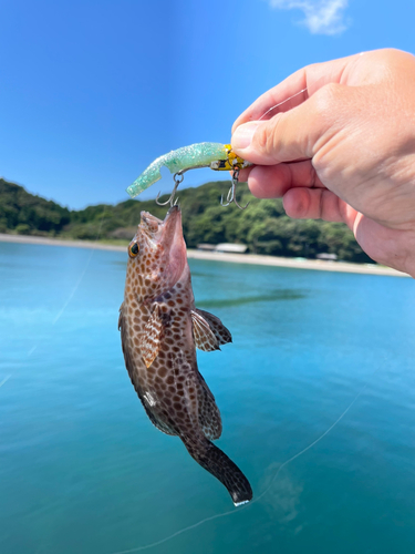
{"type": "MultiPolygon", "coordinates": [[[[329,253],[347,261],[371,261],[345,225],[290,219],[280,199],[255,198],[246,184],[238,185],[237,195],[242,205],[249,201],[249,207],[243,212],[235,205],[222,207],[220,195],[226,197],[229,185],[222,181],[178,191],[189,248],[199,243],[240,243],[256,254],[314,258],[329,253]]],[[[126,240],[133,237],[142,209],[163,218],[167,208],[154,201],[128,199],[69,211],[0,178],[0,233],[126,240]]]]}

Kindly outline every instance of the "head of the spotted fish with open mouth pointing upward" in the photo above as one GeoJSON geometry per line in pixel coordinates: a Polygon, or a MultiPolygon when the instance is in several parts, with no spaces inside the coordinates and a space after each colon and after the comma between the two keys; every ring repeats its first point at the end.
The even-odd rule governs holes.
{"type": "Polygon", "coordinates": [[[127,283],[137,300],[154,299],[170,289],[187,267],[180,208],[173,206],[164,220],[142,212],[127,266],[127,283]]]}

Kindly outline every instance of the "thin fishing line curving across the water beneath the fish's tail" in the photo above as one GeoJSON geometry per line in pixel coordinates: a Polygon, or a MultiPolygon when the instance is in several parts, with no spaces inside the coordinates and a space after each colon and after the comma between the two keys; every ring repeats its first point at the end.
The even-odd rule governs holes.
{"type": "Polygon", "coordinates": [[[288,460],[286,460],[279,468],[278,470],[276,471],[273,478],[271,479],[271,482],[269,483],[269,485],[267,486],[267,489],[259,495],[257,496],[253,501],[249,502],[248,504],[245,504],[242,505],[241,507],[237,509],[237,510],[229,510],[228,512],[222,512],[221,514],[216,514],[216,515],[210,515],[209,517],[205,517],[204,520],[197,522],[197,523],[194,523],[193,525],[188,525],[187,527],[184,527],[179,531],[176,531],[175,533],[173,533],[172,535],[168,535],[166,536],[165,538],[160,538],[159,541],[156,541],[154,543],[151,543],[151,544],[146,544],[144,546],[137,546],[135,548],[129,548],[129,550],[126,550],[126,551],[117,551],[117,552],[113,552],[112,554],[132,554],[134,552],[142,552],[142,551],[146,551],[146,550],[151,550],[151,548],[154,548],[155,546],[159,546],[160,544],[164,544],[168,541],[172,541],[173,538],[175,538],[176,536],[178,535],[181,535],[184,533],[187,533],[188,531],[191,531],[196,527],[199,527],[200,525],[203,525],[204,523],[207,523],[209,521],[214,521],[214,520],[219,520],[220,517],[226,517],[227,515],[232,515],[232,514],[236,514],[236,513],[239,513],[241,512],[242,510],[246,510],[250,506],[252,506],[253,504],[256,504],[257,502],[259,502],[267,493],[268,491],[271,489],[271,486],[273,485],[276,479],[278,478],[280,471],[286,468],[289,463],[293,462],[294,460],[297,460],[298,458],[300,458],[300,455],[304,454],[308,450],[312,449],[313,447],[315,447],[315,444],[318,444],[322,439],[324,439],[324,437],[326,437],[330,431],[332,431],[335,425],[338,423],[340,423],[340,421],[344,418],[344,416],[346,416],[346,413],[349,412],[349,410],[352,408],[352,406],[356,402],[356,400],[361,397],[361,394],[364,392],[364,390],[366,389],[366,387],[369,386],[370,383],[370,380],[373,378],[373,376],[376,373],[377,369],[372,373],[372,376],[370,377],[370,379],[367,379],[367,381],[364,383],[364,386],[360,389],[360,391],[357,392],[357,394],[353,398],[353,400],[349,403],[349,406],[346,407],[346,409],[339,416],[339,418],[334,421],[334,423],[332,423],[329,429],[326,429],[322,434],[320,434],[320,437],[318,437],[313,442],[311,442],[308,447],[305,447],[304,449],[300,450],[300,452],[298,452],[297,454],[294,454],[293,456],[289,458],[288,460]]]}

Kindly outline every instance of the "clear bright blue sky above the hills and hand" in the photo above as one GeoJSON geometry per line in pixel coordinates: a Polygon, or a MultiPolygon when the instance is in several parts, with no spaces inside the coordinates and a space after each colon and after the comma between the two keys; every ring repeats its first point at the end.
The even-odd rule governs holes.
{"type": "Polygon", "coordinates": [[[127,199],[170,150],[228,142],[242,110],[308,63],[415,53],[412,0],[1,0],[0,21],[0,175],[71,208],[127,199]]]}

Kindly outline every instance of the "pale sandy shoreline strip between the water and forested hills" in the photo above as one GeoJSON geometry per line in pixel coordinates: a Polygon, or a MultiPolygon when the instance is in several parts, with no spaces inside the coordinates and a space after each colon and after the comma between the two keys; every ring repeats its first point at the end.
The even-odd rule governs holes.
{"type": "MultiPolygon", "coordinates": [[[[0,233],[1,243],[37,244],[43,246],[66,246],[72,248],[92,248],[95,250],[125,252],[125,246],[107,245],[92,240],[63,240],[29,235],[8,235],[0,233]]],[[[372,264],[352,264],[346,261],[324,261],[320,259],[295,259],[277,256],[261,256],[258,254],[225,254],[187,249],[189,259],[205,259],[210,261],[226,261],[234,264],[251,264],[258,266],[287,267],[293,269],[311,269],[318,271],[334,271],[365,275],[386,275],[392,277],[409,277],[407,274],[390,267],[372,264]]]]}

